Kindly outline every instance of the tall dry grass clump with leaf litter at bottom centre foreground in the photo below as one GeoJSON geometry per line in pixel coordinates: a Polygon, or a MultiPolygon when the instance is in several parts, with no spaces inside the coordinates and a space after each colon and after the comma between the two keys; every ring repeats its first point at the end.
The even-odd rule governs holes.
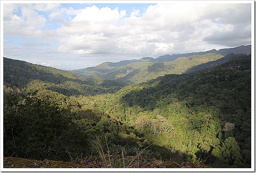
{"type": "MultiPolygon", "coordinates": [[[[148,146],[149,147],[149,146],[148,146]]],[[[159,153],[151,149],[112,144],[106,149],[102,147],[100,140],[94,141],[94,149],[98,152],[101,161],[99,163],[105,168],[203,168],[200,159],[191,159],[185,162],[164,162],[156,159],[159,153]],[[198,162],[198,163],[197,163],[198,162]]]]}

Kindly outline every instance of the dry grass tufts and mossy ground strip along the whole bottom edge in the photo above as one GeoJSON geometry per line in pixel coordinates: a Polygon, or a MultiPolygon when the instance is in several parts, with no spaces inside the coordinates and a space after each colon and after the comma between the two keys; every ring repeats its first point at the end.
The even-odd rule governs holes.
{"type": "Polygon", "coordinates": [[[4,168],[209,168],[197,158],[188,157],[184,162],[156,159],[160,154],[148,147],[114,145],[104,147],[96,137],[93,142],[96,157],[77,158],[72,163],[52,160],[28,160],[18,157],[4,157],[4,168]]]}

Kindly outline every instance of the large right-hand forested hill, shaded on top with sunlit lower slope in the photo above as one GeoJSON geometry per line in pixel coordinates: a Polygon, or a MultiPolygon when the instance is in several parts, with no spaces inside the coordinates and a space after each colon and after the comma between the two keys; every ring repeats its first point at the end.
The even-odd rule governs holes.
{"type": "Polygon", "coordinates": [[[234,56],[211,69],[165,75],[124,87],[114,96],[81,102],[96,105],[135,127],[144,143],[170,149],[172,159],[190,155],[211,167],[250,167],[250,55],[234,56]]]}

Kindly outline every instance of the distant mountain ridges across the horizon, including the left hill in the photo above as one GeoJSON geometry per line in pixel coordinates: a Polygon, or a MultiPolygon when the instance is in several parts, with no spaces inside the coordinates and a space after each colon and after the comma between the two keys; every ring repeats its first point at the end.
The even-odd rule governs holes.
{"type": "Polygon", "coordinates": [[[173,54],[156,59],[104,62],[96,67],[59,70],[4,57],[4,85],[26,92],[48,89],[64,95],[114,93],[124,86],[139,84],[166,74],[183,74],[212,68],[239,56],[250,54],[251,45],[236,48],[173,54]]]}

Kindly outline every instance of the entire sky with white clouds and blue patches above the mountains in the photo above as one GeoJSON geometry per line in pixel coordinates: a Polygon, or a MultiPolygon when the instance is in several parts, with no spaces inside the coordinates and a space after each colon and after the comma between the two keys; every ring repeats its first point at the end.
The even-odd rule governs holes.
{"type": "Polygon", "coordinates": [[[63,70],[251,44],[254,1],[26,2],[1,2],[3,56],[63,70]]]}

